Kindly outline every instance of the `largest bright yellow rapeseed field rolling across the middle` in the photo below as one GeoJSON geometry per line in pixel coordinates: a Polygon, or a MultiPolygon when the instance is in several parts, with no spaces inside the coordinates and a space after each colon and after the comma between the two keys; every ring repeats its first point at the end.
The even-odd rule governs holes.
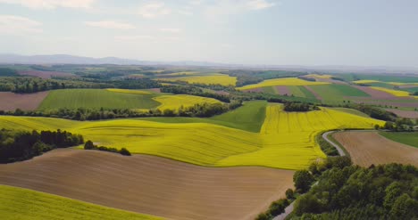
{"type": "Polygon", "coordinates": [[[140,119],[71,121],[59,118],[0,116],[9,129],[63,129],[107,147],[145,153],[210,167],[264,166],[305,168],[325,155],[314,142],[321,131],[372,128],[383,121],[323,108],[285,112],[267,108],[259,134],[208,123],[159,123],[140,119]]]}

